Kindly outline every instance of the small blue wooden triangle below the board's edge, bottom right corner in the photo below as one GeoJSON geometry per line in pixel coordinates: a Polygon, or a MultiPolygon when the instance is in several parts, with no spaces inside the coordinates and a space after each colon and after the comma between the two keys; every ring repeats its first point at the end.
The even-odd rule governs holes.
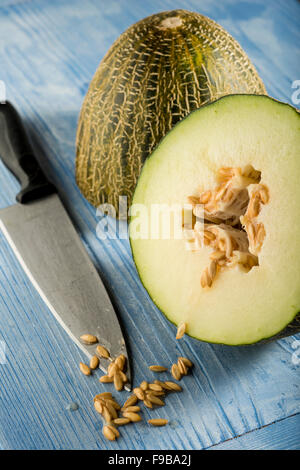
{"type": "Polygon", "coordinates": [[[300,450],[300,414],[251,431],[209,450],[300,450]]]}

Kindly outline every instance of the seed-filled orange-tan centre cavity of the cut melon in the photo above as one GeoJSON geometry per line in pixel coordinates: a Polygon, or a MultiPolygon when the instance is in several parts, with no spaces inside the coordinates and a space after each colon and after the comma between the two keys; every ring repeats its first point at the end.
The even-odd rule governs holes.
{"type": "Polygon", "coordinates": [[[269,190],[261,183],[260,171],[251,165],[243,169],[222,167],[216,188],[189,196],[188,202],[195,216],[189,243],[194,243],[195,250],[203,246],[212,250],[201,274],[203,288],[211,287],[217,275],[228,268],[238,266],[249,272],[259,265],[266,231],[257,217],[269,202],[269,190]]]}

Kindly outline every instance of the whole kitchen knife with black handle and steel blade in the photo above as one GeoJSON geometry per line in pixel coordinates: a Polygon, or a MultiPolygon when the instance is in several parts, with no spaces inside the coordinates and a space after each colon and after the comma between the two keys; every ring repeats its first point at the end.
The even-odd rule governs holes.
{"type": "MultiPolygon", "coordinates": [[[[0,157],[21,184],[17,204],[0,210],[0,229],[30,281],[55,318],[91,358],[96,345],[80,341],[95,335],[111,358],[127,358],[125,388],[131,389],[122,330],[105,287],[69,216],[34,155],[11,103],[0,104],[0,157]]],[[[107,372],[109,360],[101,358],[107,372]]]]}

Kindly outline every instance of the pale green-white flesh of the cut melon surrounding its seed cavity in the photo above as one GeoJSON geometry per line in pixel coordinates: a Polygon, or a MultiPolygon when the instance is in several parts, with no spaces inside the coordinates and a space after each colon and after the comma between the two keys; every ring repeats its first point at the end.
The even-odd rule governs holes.
{"type": "Polygon", "coordinates": [[[267,96],[223,97],[162,139],[134,193],[130,243],[144,287],[172,323],[185,322],[186,333],[199,340],[234,346],[300,331],[299,180],[299,112],[267,96]],[[208,249],[192,252],[183,239],[147,238],[150,209],[184,204],[214,187],[220,167],[246,165],[261,172],[270,194],[259,214],[266,230],[259,266],[248,273],[228,268],[203,289],[208,249]]]}

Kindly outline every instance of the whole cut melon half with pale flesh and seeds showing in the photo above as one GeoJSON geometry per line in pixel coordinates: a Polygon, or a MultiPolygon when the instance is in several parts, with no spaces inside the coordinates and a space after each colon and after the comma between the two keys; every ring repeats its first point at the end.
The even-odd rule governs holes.
{"type": "Polygon", "coordinates": [[[300,330],[300,119],[267,96],[229,95],[177,124],[146,161],[131,207],[141,281],[203,341],[300,330]]]}

